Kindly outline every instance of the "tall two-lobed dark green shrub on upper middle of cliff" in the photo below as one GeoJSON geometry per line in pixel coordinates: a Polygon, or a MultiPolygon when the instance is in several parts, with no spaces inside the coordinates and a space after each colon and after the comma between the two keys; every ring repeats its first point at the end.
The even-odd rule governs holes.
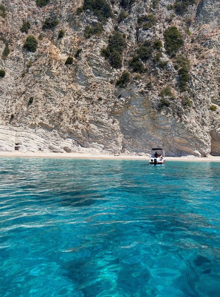
{"type": "Polygon", "coordinates": [[[108,46],[103,48],[101,54],[105,59],[110,59],[112,67],[120,68],[122,66],[122,52],[126,46],[126,36],[119,31],[115,31],[108,38],[108,46]]]}

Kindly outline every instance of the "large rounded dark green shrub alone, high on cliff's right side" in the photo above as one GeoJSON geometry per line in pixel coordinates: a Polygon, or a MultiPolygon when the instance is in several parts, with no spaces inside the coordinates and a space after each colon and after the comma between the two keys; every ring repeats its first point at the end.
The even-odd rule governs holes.
{"type": "Polygon", "coordinates": [[[167,53],[174,56],[183,45],[182,34],[178,31],[176,26],[171,26],[164,31],[163,35],[167,53]]]}

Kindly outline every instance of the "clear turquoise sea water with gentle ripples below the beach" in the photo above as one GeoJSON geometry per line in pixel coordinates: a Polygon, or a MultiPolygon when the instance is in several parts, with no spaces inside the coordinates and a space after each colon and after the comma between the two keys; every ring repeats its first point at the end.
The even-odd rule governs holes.
{"type": "Polygon", "coordinates": [[[0,158],[0,296],[220,295],[220,163],[0,158]]]}

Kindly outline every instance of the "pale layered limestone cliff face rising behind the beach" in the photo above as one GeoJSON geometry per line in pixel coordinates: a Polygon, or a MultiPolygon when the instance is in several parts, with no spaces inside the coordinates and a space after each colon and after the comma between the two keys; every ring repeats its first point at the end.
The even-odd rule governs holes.
{"type": "Polygon", "coordinates": [[[89,10],[76,13],[83,1],[50,0],[43,7],[34,0],[3,1],[0,55],[5,47],[10,52],[0,61],[5,70],[0,78],[0,151],[148,155],[152,147],[162,146],[168,156],[220,155],[219,1],[196,1],[180,16],[167,9],[174,1],[159,1],[153,8],[150,0],[136,0],[120,23],[120,1],[109,3],[113,17],[103,24],[104,31],[85,38],[86,26],[98,20],[89,10]],[[138,17],[149,13],[157,23],[144,29],[138,17]],[[42,29],[46,18],[59,24],[42,29]],[[31,24],[28,34],[20,31],[23,19],[31,24]],[[120,69],[101,55],[116,26],[127,43],[120,69]],[[177,26],[184,39],[177,55],[190,61],[184,92],[178,88],[175,57],[164,47],[163,33],[169,26],[177,26]],[[60,29],[63,38],[58,38],[60,29]],[[38,41],[35,52],[23,47],[28,35],[38,41]],[[140,44],[156,39],[162,41],[163,67],[147,60],[138,77],[129,61],[140,44]],[[75,57],[78,49],[82,52],[75,57]],[[71,65],[65,65],[68,56],[73,57],[71,65]],[[130,81],[116,86],[124,70],[130,72],[130,81]],[[173,94],[168,107],[160,104],[166,86],[173,94]]]}

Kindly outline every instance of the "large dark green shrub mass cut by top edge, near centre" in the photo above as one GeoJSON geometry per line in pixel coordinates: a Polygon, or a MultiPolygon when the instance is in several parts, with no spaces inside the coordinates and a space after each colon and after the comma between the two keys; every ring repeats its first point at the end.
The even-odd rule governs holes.
{"type": "Polygon", "coordinates": [[[112,9],[106,0],[84,0],[82,8],[89,9],[98,17],[99,21],[106,21],[112,17],[112,9]]]}

